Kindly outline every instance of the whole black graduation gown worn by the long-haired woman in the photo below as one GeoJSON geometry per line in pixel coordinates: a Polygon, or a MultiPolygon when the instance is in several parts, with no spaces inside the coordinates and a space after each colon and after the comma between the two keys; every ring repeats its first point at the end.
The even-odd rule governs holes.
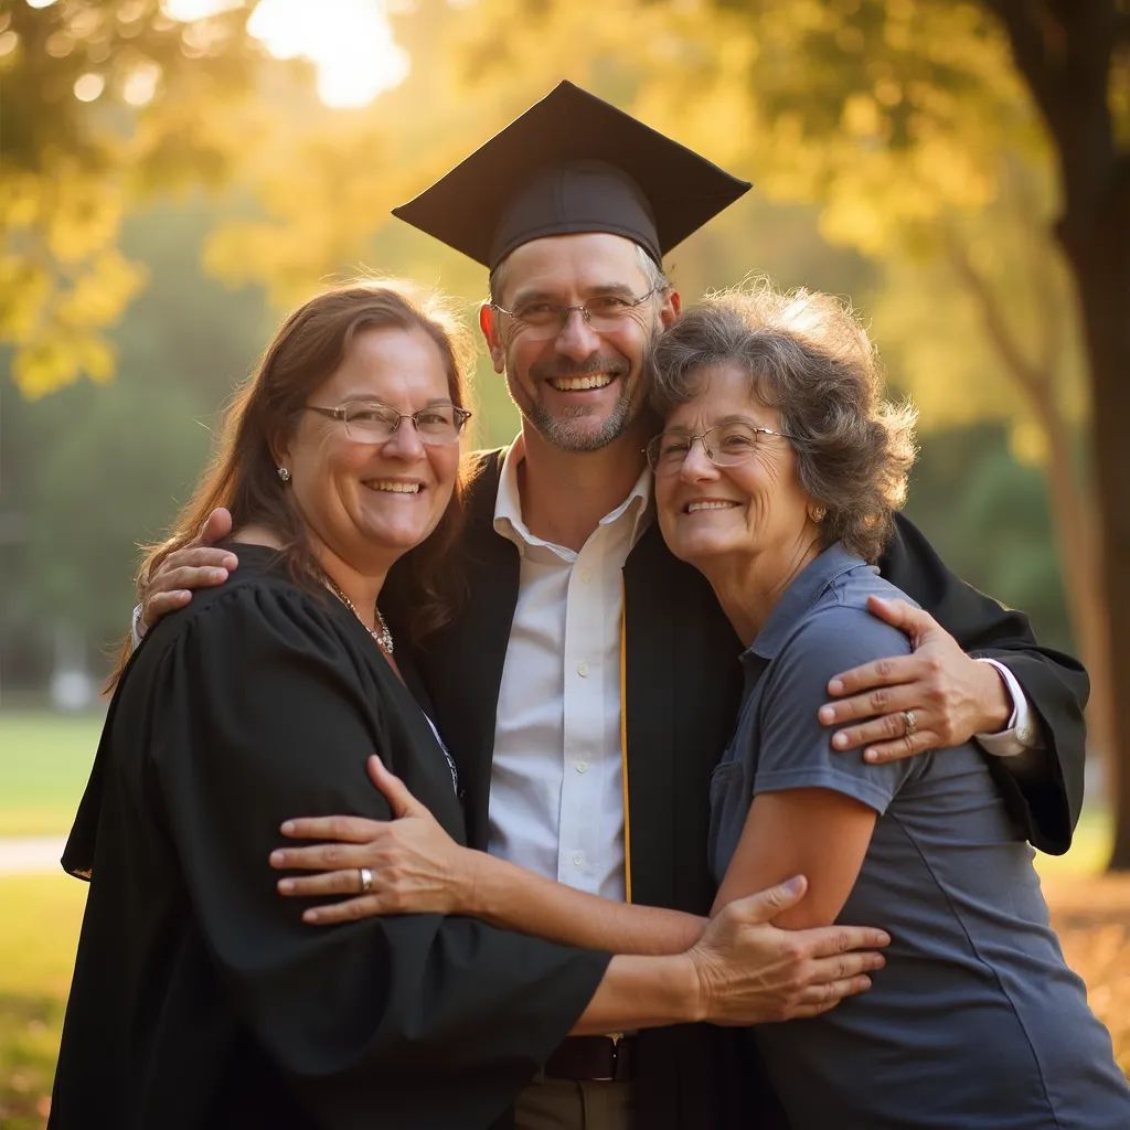
{"type": "Polygon", "coordinates": [[[110,707],[63,857],[93,879],[51,1125],[486,1128],[608,956],[467,918],[301,921],[268,866],[290,816],[390,816],[377,750],[454,837],[419,706],[368,633],[273,554],[166,617],[110,707]]]}

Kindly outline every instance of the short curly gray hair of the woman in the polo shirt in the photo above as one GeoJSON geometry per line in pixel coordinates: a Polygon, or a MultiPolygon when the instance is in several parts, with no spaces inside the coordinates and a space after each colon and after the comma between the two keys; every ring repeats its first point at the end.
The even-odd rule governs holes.
{"type": "Polygon", "coordinates": [[[739,365],[749,391],[781,414],[801,486],[826,510],[825,546],[876,562],[906,497],[915,409],[883,398],[883,370],[845,303],[764,279],[711,295],[657,342],[652,406],[666,419],[702,389],[703,370],[739,365]]]}

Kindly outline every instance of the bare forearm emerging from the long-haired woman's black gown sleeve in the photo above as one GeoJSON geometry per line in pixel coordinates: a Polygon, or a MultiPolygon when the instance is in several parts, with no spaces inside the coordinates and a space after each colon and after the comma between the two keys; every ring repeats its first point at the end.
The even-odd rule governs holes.
{"type": "Polygon", "coordinates": [[[573,1026],[579,1036],[689,1024],[705,1018],[698,976],[689,957],[618,955],[573,1026]]]}

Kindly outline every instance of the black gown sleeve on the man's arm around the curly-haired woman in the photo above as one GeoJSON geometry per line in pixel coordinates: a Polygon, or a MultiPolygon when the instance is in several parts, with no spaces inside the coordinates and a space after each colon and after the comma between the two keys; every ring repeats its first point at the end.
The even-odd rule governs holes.
{"type": "Polygon", "coordinates": [[[922,532],[901,514],[879,570],[966,652],[999,659],[1016,676],[1043,723],[1046,749],[1037,765],[1029,758],[1020,763],[1008,757],[989,757],[989,764],[1032,843],[1041,851],[1062,854],[1071,845],[1083,808],[1083,712],[1090,689],[1083,664],[1063,652],[1041,647],[1024,612],[1005,608],[955,576],[922,532]]]}

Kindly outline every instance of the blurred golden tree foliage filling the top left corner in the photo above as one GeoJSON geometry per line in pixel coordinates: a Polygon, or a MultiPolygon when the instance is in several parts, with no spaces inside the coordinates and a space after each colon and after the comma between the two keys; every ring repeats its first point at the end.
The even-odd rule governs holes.
{"type": "Polygon", "coordinates": [[[0,341],[25,395],[113,375],[105,330],[145,282],[122,217],[229,172],[253,132],[253,7],[193,23],[158,0],[0,8],[0,341]]]}

